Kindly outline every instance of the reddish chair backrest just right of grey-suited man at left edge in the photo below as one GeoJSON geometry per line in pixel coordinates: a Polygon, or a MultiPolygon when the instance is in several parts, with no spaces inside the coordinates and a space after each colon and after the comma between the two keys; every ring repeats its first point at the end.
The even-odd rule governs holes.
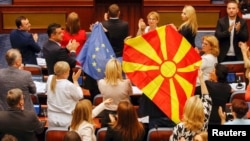
{"type": "Polygon", "coordinates": [[[34,64],[25,64],[24,70],[31,72],[34,81],[43,82],[42,67],[34,64]]]}

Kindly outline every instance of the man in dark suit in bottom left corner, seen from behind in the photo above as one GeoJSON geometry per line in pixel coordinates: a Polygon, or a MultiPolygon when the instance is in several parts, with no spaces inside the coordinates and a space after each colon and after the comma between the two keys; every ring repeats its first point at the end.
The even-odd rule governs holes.
{"type": "Polygon", "coordinates": [[[40,122],[34,112],[25,110],[22,90],[9,90],[7,103],[9,109],[0,111],[0,139],[5,134],[10,134],[18,141],[36,141],[36,134],[44,130],[44,122],[40,122]]]}

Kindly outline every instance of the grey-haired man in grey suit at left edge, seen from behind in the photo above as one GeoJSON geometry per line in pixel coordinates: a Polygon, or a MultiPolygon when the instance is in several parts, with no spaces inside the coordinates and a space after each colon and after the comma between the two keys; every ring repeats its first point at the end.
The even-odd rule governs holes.
{"type": "Polygon", "coordinates": [[[0,69],[0,111],[7,110],[6,94],[10,89],[20,88],[25,96],[25,109],[34,112],[30,94],[36,93],[36,85],[29,71],[21,70],[22,56],[17,49],[9,49],[5,55],[7,68],[0,69]]]}

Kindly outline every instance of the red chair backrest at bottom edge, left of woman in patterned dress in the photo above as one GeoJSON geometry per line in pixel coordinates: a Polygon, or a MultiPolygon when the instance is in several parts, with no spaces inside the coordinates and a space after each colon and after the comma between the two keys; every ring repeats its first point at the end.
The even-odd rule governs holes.
{"type": "Polygon", "coordinates": [[[147,141],[168,141],[173,133],[173,128],[158,127],[148,131],[147,141]]]}

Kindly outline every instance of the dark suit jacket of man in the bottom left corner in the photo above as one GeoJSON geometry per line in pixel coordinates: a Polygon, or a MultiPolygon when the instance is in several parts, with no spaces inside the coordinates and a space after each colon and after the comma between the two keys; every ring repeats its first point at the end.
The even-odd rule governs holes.
{"type": "Polygon", "coordinates": [[[15,136],[18,141],[36,141],[36,134],[44,130],[44,123],[31,111],[10,108],[0,111],[0,138],[4,134],[15,136]]]}

